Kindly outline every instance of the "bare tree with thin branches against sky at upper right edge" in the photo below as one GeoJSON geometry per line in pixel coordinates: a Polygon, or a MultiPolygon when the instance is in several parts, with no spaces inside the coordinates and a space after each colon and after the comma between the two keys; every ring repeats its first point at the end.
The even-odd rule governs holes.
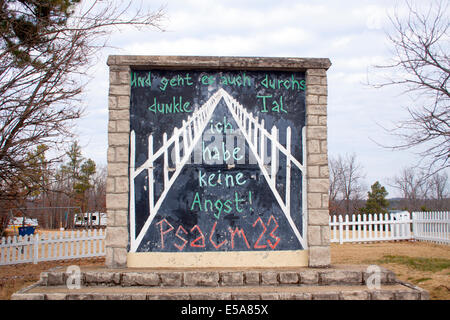
{"type": "Polygon", "coordinates": [[[406,17],[398,9],[389,17],[393,32],[388,39],[394,61],[377,66],[391,71],[391,76],[377,86],[405,88],[414,101],[407,107],[408,119],[389,130],[400,138],[389,147],[425,147],[420,153],[424,168],[436,172],[450,167],[449,2],[405,1],[405,5],[406,17]]]}

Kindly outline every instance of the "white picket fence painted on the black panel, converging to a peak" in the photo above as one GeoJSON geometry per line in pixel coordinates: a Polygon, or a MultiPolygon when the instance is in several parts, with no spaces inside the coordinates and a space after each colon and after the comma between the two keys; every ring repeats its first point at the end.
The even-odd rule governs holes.
{"type": "Polygon", "coordinates": [[[158,213],[159,208],[162,205],[167,193],[169,192],[171,186],[175,182],[176,178],[180,174],[184,165],[190,160],[192,151],[195,145],[199,141],[203,134],[203,131],[211,119],[215,108],[217,107],[220,99],[224,98],[225,103],[233,115],[234,120],[239,126],[241,133],[244,135],[251,151],[253,152],[258,165],[263,172],[263,175],[269,184],[275,198],[277,199],[286,219],[288,220],[292,230],[294,231],[296,237],[298,238],[300,244],[303,248],[307,248],[306,241],[304,241],[302,235],[297,229],[292,217],[290,208],[290,182],[291,182],[291,163],[294,164],[298,169],[302,171],[303,177],[303,230],[302,234],[306,234],[306,174],[305,164],[306,164],[306,142],[305,142],[305,132],[303,131],[303,165],[295,159],[291,154],[291,128],[288,127],[286,131],[287,142],[286,146],[281,145],[279,142],[278,129],[274,126],[269,133],[264,128],[264,120],[258,121],[258,118],[254,117],[250,112],[248,112],[241,104],[239,104],[231,95],[229,95],[225,90],[219,89],[211,98],[204,103],[198,110],[194,111],[192,117],[189,117],[187,121],[183,121],[181,128],[174,128],[173,134],[170,139],[167,139],[167,133],[163,134],[163,145],[156,152],[153,151],[153,135],[148,137],[148,159],[139,168],[135,168],[135,150],[136,150],[136,138],[135,132],[131,131],[130,134],[130,252],[136,252],[143,237],[145,236],[148,228],[150,227],[154,217],[158,213]],[[181,139],[181,142],[180,142],[181,139]],[[271,141],[271,157],[270,159],[265,158],[266,150],[265,142],[267,140],[271,141]],[[258,146],[259,144],[259,146],[258,146]],[[175,168],[169,168],[169,148],[173,145],[174,148],[174,163],[175,168]],[[183,154],[181,156],[180,145],[183,146],[183,154]],[[276,175],[279,169],[278,164],[278,154],[282,152],[286,156],[286,192],[284,199],[281,197],[277,190],[276,175]],[[154,174],[153,174],[153,164],[159,158],[163,156],[163,177],[164,177],[164,188],[158,199],[154,197],[154,174]],[[266,161],[267,160],[267,161],[266,161]],[[268,167],[270,167],[270,172],[266,168],[265,162],[270,162],[268,167]],[[136,236],[136,209],[135,209],[135,186],[134,179],[144,170],[148,170],[148,192],[149,192],[149,209],[150,215],[147,218],[144,226],[142,227],[139,234],[136,236]],[[172,171],[173,174],[169,178],[169,172],[172,171]],[[155,202],[156,200],[156,202],[155,202]]]}

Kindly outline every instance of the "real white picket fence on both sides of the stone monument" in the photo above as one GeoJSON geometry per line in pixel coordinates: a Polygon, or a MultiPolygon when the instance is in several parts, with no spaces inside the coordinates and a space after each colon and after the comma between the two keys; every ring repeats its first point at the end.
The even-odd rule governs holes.
{"type": "MultiPolygon", "coordinates": [[[[420,240],[450,244],[450,212],[413,212],[330,217],[331,242],[420,240]],[[351,217],[351,218],[350,218],[351,217]]],[[[105,255],[106,231],[60,231],[2,238],[0,265],[38,263],[105,255]]]]}

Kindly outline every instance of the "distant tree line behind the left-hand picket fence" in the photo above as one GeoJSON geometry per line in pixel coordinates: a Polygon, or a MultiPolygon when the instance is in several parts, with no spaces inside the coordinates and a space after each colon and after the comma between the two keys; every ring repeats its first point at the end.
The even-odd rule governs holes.
{"type": "Polygon", "coordinates": [[[14,199],[0,199],[0,216],[37,218],[45,228],[73,227],[79,212],[106,212],[106,167],[83,157],[77,141],[60,161],[48,160],[46,145],[26,155],[26,184],[18,185],[14,199]]]}

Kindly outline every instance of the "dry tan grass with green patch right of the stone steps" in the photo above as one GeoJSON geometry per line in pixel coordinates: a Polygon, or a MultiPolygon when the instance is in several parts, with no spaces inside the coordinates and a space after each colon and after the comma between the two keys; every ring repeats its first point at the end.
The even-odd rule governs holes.
{"type": "Polygon", "coordinates": [[[377,264],[414,283],[434,300],[450,300],[450,247],[427,242],[332,244],[333,264],[377,264]]]}

